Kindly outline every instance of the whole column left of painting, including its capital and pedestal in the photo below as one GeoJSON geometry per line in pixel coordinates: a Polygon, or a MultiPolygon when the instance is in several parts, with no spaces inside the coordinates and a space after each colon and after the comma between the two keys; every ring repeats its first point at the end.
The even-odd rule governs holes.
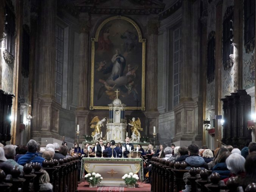
{"type": "MultiPolygon", "coordinates": [[[[82,19],[80,21],[80,53],[79,53],[79,74],[78,74],[78,107],[75,111],[76,125],[80,126],[80,135],[88,134],[88,95],[90,95],[90,90],[88,90],[87,82],[89,81],[90,75],[88,74],[88,33],[89,33],[89,22],[87,19],[82,19]]],[[[83,139],[81,137],[81,139],[83,139]]]]}

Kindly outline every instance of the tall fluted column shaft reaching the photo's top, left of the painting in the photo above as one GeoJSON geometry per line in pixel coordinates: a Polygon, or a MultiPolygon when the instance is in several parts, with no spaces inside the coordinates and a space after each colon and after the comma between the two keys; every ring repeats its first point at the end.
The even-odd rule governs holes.
{"type": "Polygon", "coordinates": [[[44,29],[44,72],[43,89],[45,96],[54,97],[55,94],[55,25],[56,0],[45,0],[43,3],[44,29]]]}

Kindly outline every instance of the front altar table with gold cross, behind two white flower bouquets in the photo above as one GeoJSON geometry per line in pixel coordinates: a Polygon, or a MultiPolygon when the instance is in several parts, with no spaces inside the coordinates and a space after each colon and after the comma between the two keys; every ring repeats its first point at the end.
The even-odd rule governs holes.
{"type": "Polygon", "coordinates": [[[130,172],[136,173],[142,181],[142,161],[141,158],[83,158],[80,181],[84,181],[84,170],[87,173],[99,173],[103,177],[98,186],[126,186],[122,176],[130,172]]]}

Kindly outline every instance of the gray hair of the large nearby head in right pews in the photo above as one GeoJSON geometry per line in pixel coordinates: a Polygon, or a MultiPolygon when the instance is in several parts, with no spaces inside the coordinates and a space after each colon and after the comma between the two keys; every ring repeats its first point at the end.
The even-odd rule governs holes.
{"type": "Polygon", "coordinates": [[[237,175],[237,173],[244,171],[245,158],[238,153],[232,153],[226,159],[226,164],[228,170],[237,175]]]}

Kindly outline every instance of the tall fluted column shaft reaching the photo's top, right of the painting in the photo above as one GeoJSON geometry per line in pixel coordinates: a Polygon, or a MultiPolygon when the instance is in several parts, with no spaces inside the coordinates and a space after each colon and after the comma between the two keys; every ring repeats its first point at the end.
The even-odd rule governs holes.
{"type": "Polygon", "coordinates": [[[181,60],[181,98],[180,101],[192,100],[192,49],[191,37],[191,1],[183,0],[182,4],[182,60],[181,60]]]}

